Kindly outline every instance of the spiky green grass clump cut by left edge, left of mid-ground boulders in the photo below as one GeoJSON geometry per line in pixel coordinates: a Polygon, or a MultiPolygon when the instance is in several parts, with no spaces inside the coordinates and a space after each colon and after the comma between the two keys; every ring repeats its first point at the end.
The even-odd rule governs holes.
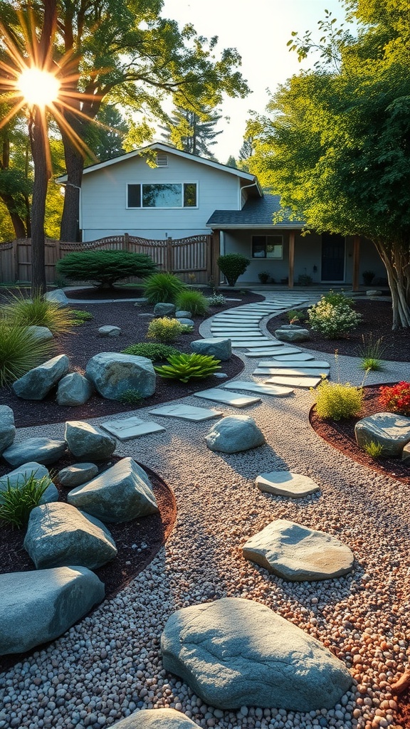
{"type": "Polygon", "coordinates": [[[0,387],[42,364],[53,348],[53,342],[41,342],[28,327],[0,321],[0,387]]]}

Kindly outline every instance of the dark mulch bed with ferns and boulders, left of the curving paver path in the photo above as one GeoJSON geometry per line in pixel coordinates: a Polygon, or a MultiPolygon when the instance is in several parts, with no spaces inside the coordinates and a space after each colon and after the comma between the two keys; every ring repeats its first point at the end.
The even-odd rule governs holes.
{"type": "MultiPolygon", "coordinates": [[[[83,297],[86,290],[92,292],[93,296],[97,295],[96,292],[98,289],[79,290],[75,293],[78,297],[80,295],[83,297]]],[[[127,292],[129,295],[135,295],[136,293],[134,289],[119,289],[119,291],[121,297],[125,296],[124,292],[127,292]]],[[[139,289],[137,289],[137,293],[141,294],[139,289]]],[[[214,308],[210,313],[223,311],[224,308],[232,308],[233,306],[239,306],[244,303],[263,300],[263,297],[259,295],[238,295],[237,292],[233,295],[236,295],[238,298],[241,297],[241,301],[227,302],[225,307],[214,308]]],[[[104,297],[107,297],[106,292],[104,293],[104,297]]],[[[93,319],[86,321],[80,327],[74,327],[72,334],[58,337],[55,340],[56,348],[54,354],[66,354],[70,360],[71,371],[77,370],[77,372],[84,374],[88,360],[94,354],[98,354],[98,352],[120,352],[131,344],[149,341],[145,337],[148,324],[152,318],[150,316],[152,315],[152,306],[139,305],[136,307],[133,302],[107,304],[76,304],[73,302],[72,308],[89,311],[93,314],[93,319]],[[98,327],[104,324],[114,324],[120,327],[120,337],[99,337],[98,327]]],[[[189,352],[190,342],[200,338],[198,335],[198,327],[203,319],[196,317],[194,321],[194,331],[192,334],[182,335],[179,338],[177,343],[174,344],[177,349],[189,352]]],[[[232,356],[232,359],[228,362],[221,362],[221,369],[219,371],[228,375],[228,378],[232,378],[238,375],[243,370],[243,367],[244,364],[241,359],[232,356]]],[[[112,413],[127,413],[130,410],[146,408],[147,406],[153,407],[159,405],[161,402],[169,402],[179,397],[185,397],[185,395],[192,394],[198,390],[204,390],[208,387],[214,387],[217,384],[220,384],[220,380],[214,376],[204,380],[191,380],[188,383],[164,380],[158,377],[155,393],[151,397],[144,399],[140,405],[122,405],[120,402],[107,400],[95,394],[85,405],[78,405],[75,408],[68,406],[61,407],[58,405],[55,402],[55,389],[44,400],[28,402],[27,400],[19,399],[12,389],[1,388],[0,405],[9,405],[12,408],[15,414],[15,424],[21,428],[32,425],[61,423],[66,420],[98,418],[112,415],[112,413]]]]}

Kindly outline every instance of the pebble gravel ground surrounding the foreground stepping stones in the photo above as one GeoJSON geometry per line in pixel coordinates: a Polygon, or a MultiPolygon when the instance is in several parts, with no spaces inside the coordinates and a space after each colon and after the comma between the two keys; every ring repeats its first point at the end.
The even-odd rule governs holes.
{"type": "MultiPolygon", "coordinates": [[[[207,327],[201,327],[204,336],[207,327]]],[[[247,360],[245,375],[251,378],[254,367],[247,360]]],[[[340,356],[339,367],[343,379],[360,383],[355,359],[340,356]]],[[[409,376],[409,364],[390,362],[383,373],[372,373],[370,383],[409,376]]],[[[185,402],[199,401],[190,395],[185,402]]],[[[137,708],[160,706],[185,712],[203,728],[410,727],[406,695],[398,706],[391,689],[409,660],[409,488],[322,440],[309,424],[311,405],[302,390],[289,398],[262,397],[244,412],[255,418],[266,445],[244,453],[212,453],[204,444],[209,423],[185,421],[168,421],[165,432],[118,445],[118,455],[146,464],[173,488],[174,530],[114,599],[1,674],[1,729],[99,729],[137,708]],[[255,477],[276,469],[309,475],[320,493],[297,501],[262,494],[255,477]],[[293,583],[244,561],[241,546],[276,518],[338,537],[355,553],[354,572],[293,583]],[[262,602],[319,639],[351,669],[352,690],[334,709],[309,714],[258,707],[222,712],[204,705],[163,671],[160,634],[174,610],[223,596],[262,602]]],[[[146,408],[139,414],[149,417],[146,408]]],[[[63,425],[20,429],[18,438],[34,430],[59,437],[63,425]]]]}

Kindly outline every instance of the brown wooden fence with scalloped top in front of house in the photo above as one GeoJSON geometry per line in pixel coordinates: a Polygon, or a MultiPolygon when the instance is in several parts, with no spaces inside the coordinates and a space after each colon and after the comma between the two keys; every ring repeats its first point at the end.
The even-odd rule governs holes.
{"type": "MultiPolygon", "coordinates": [[[[73,251],[111,250],[146,253],[158,263],[158,268],[177,273],[182,280],[207,284],[209,278],[216,276],[215,269],[218,251],[213,252],[211,235],[191,235],[166,241],[151,241],[135,238],[133,235],[115,235],[86,243],[62,243],[45,241],[45,270],[47,283],[55,283],[55,262],[73,251]]],[[[57,277],[58,278],[58,277],[57,277]]],[[[134,281],[134,279],[128,279],[134,281]]],[[[0,243],[0,283],[11,284],[15,281],[31,281],[31,240],[19,238],[11,243],[0,243]]]]}

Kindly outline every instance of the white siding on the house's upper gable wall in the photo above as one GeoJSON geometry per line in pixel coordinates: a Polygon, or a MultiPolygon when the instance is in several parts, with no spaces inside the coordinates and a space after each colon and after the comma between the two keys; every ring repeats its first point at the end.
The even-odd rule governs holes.
{"type": "Polygon", "coordinates": [[[83,240],[105,235],[139,235],[142,238],[209,233],[206,221],[215,209],[237,210],[239,178],[195,160],[169,154],[168,167],[152,168],[144,157],[133,157],[82,178],[83,240]],[[139,182],[196,182],[198,208],[127,209],[127,184],[139,182]]]}

